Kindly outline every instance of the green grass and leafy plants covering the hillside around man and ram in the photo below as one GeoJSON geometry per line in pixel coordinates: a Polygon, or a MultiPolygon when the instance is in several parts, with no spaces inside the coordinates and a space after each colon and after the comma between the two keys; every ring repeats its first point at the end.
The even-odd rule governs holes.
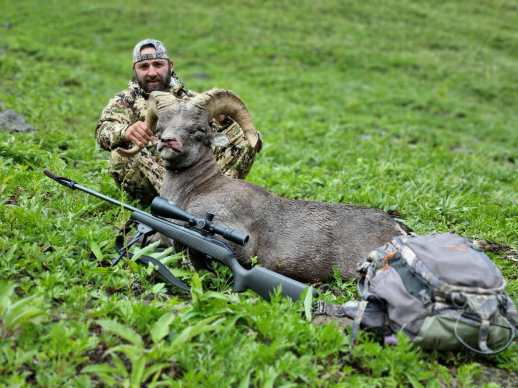
{"type": "MultiPolygon", "coordinates": [[[[0,301],[19,317],[3,308],[0,385],[470,386],[476,363],[518,369],[516,343],[478,357],[362,335],[349,356],[347,332],[306,321],[301,302],[231,294],[225,273],[176,269],[203,286],[191,298],[152,268],[109,270],[127,214],[41,173],[121,198],[93,133],[132,76],[135,43],[153,37],[187,87],[226,87],[247,103],[265,140],[248,180],[284,197],[397,210],[418,233],[455,229],[516,248],[518,2],[1,9],[0,104],[37,131],[0,141],[0,301]]],[[[489,255],[517,303],[516,263],[489,255]]]]}

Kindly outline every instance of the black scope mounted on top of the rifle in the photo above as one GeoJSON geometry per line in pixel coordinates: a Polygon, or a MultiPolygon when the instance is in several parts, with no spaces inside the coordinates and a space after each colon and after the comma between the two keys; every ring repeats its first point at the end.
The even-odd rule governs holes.
{"type": "Polygon", "coordinates": [[[212,213],[207,212],[205,213],[205,218],[200,218],[184,211],[181,207],[162,197],[155,197],[153,199],[153,202],[151,202],[151,213],[161,217],[188,222],[190,226],[205,230],[209,233],[219,234],[225,238],[225,240],[232,241],[243,247],[248,243],[248,234],[231,228],[223,228],[217,223],[212,222],[212,218],[214,217],[212,213]]]}

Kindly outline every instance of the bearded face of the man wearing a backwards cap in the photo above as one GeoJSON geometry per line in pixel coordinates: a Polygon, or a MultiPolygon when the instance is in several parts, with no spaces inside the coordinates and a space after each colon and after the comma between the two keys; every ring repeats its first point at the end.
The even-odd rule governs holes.
{"type": "MultiPolygon", "coordinates": [[[[140,54],[154,54],[154,47],[146,47],[140,50],[140,54]]],[[[164,58],[146,59],[146,61],[137,62],[133,66],[135,79],[138,85],[146,93],[153,91],[164,92],[169,88],[171,82],[172,61],[164,58]]]]}

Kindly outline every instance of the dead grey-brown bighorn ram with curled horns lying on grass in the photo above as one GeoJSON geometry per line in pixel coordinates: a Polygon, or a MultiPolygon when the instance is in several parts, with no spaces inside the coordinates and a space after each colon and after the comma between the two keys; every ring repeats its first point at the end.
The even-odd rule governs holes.
{"type": "MultiPolygon", "coordinates": [[[[252,147],[261,147],[248,109],[226,89],[199,94],[189,102],[153,92],[146,122],[156,124],[157,150],[166,168],[160,196],[199,216],[210,211],[214,222],[249,234],[246,247],[234,245],[243,266],[249,267],[250,257],[257,256],[269,270],[305,282],[325,279],[333,266],[343,278],[352,278],[356,263],[373,248],[411,231],[367,206],[281,198],[254,183],[224,176],[211,145],[225,146],[228,138],[209,127],[221,114],[234,118],[252,147]]],[[[138,148],[130,154],[135,152],[138,148]]],[[[204,257],[189,254],[196,268],[205,267],[204,257]]]]}

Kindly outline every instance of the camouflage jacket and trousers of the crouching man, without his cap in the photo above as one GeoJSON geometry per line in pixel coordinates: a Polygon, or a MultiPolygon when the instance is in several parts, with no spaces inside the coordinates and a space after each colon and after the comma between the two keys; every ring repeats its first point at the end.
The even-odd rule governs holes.
{"type": "MultiPolygon", "coordinates": [[[[171,86],[167,92],[180,100],[189,101],[196,93],[186,89],[183,82],[173,72],[171,86]]],[[[110,151],[108,171],[119,186],[124,182],[124,190],[130,199],[140,199],[148,205],[159,195],[164,177],[162,159],[156,153],[156,138],[132,158],[123,158],[114,150],[117,147],[129,149],[133,146],[124,136],[126,128],[137,121],[145,121],[149,94],[144,92],[133,78],[128,88],[114,96],[104,109],[95,129],[95,138],[100,147],[110,151]]],[[[230,117],[222,122],[212,120],[214,132],[223,132],[230,143],[214,149],[218,166],[226,176],[244,179],[252,168],[255,151],[248,143],[241,128],[230,117]]],[[[155,132],[155,128],[152,129],[155,132]]],[[[261,137],[257,133],[258,137],[261,137]]]]}

